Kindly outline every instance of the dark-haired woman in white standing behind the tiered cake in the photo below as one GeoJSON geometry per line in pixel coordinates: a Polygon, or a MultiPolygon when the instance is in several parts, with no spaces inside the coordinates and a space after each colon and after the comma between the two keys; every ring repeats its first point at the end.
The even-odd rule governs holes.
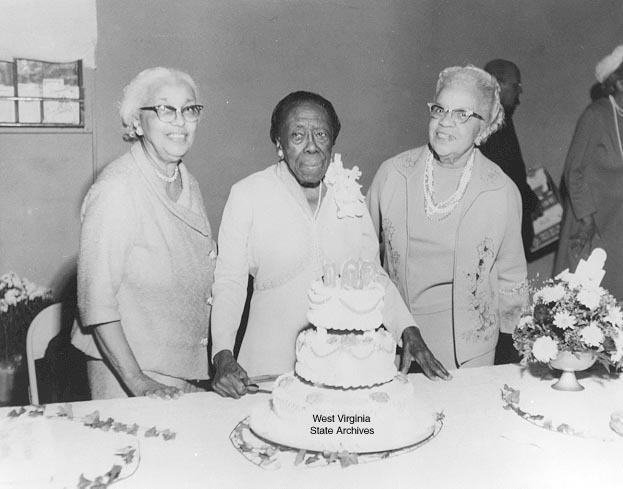
{"type": "MultiPolygon", "coordinates": [[[[328,100],[311,92],[289,94],[271,118],[278,163],[231,189],[212,289],[212,385],[223,396],[245,394],[251,376],[294,368],[296,337],[308,325],[307,294],[326,262],[338,267],[349,259],[378,263],[378,239],[359,184],[340,178],[358,176],[358,170],[331,163],[339,131],[328,100]],[[232,352],[249,274],[253,295],[236,360],[232,352]]],[[[383,323],[397,342],[402,340],[402,368],[415,360],[429,377],[448,378],[387,282],[383,323]]]]}

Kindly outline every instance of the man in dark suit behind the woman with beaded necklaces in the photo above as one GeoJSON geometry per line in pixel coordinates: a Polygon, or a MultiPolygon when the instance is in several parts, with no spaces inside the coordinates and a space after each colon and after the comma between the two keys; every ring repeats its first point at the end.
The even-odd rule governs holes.
{"type": "MultiPolygon", "coordinates": [[[[504,124],[480,145],[480,151],[497,164],[519,189],[523,210],[521,238],[526,258],[529,260],[530,247],[534,239],[532,221],[542,212],[539,198],[526,180],[526,165],[521,156],[519,140],[513,123],[513,115],[519,105],[519,95],[523,91],[521,73],[515,63],[505,59],[489,61],[484,69],[487,73],[492,74],[500,84],[500,102],[504,107],[504,124]]],[[[512,344],[510,346],[512,347],[512,344]]],[[[518,357],[514,359],[518,359],[518,357]]]]}

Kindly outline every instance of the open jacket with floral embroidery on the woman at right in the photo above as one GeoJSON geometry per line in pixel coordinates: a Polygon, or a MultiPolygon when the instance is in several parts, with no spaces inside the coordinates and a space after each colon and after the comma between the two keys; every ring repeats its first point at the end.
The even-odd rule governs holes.
{"type": "MultiPolygon", "coordinates": [[[[476,150],[470,183],[455,212],[460,212],[454,251],[452,313],[459,364],[485,354],[501,330],[511,333],[527,303],[526,261],[521,241],[521,197],[517,187],[476,150]]],[[[410,308],[416,273],[409,256],[417,253],[408,227],[418,193],[424,191],[427,147],[385,161],[367,195],[375,229],[384,245],[384,266],[410,308]]]]}

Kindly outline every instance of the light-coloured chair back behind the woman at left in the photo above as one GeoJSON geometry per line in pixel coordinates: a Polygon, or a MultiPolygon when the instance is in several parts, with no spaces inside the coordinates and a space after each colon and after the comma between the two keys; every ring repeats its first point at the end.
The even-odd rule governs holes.
{"type": "Polygon", "coordinates": [[[31,404],[39,404],[35,360],[43,358],[50,340],[61,332],[63,305],[59,302],[43,309],[30,323],[26,335],[26,361],[31,404]]]}

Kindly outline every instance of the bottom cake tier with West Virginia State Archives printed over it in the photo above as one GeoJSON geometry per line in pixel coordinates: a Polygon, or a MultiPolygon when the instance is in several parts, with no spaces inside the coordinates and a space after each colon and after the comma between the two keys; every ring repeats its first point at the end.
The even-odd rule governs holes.
{"type": "Polygon", "coordinates": [[[416,402],[404,375],[369,389],[310,386],[285,374],[272,401],[251,415],[259,436],[315,451],[380,452],[406,447],[434,433],[436,416],[416,402]]]}

